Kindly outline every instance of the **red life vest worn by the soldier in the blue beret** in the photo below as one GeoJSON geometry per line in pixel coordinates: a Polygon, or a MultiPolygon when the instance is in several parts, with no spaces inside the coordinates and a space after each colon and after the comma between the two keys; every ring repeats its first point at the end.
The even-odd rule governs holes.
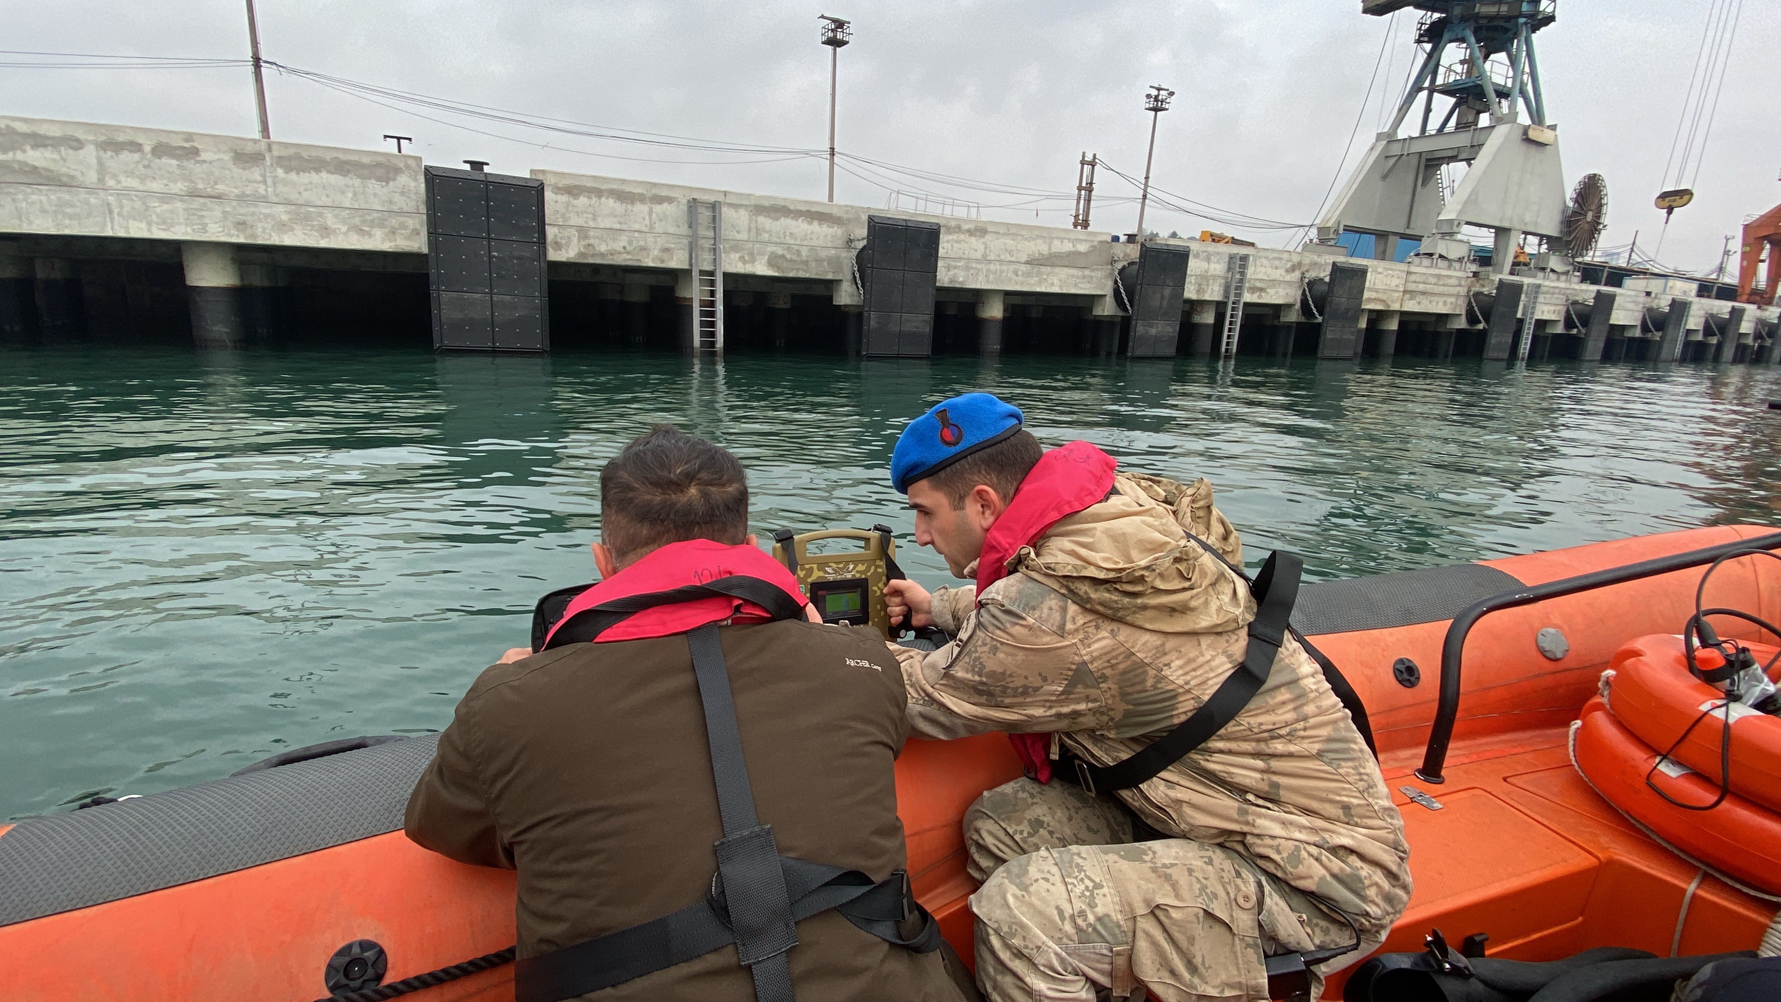
{"type": "MultiPolygon", "coordinates": [[[[1021,547],[1038,542],[1060,519],[1104,501],[1113,490],[1117,465],[1088,442],[1070,442],[1040,456],[983,537],[978,597],[1008,576],[1008,562],[1021,547]]],[[[1051,783],[1051,735],[1008,735],[1008,742],[1028,776],[1051,783]]]]}

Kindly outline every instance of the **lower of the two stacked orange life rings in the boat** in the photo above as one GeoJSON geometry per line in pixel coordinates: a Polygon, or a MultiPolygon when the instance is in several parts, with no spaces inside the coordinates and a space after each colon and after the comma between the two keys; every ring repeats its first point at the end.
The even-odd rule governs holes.
{"type": "MultiPolygon", "coordinates": [[[[1756,890],[1781,893],[1781,815],[1738,793],[1712,811],[1663,801],[1646,786],[1658,752],[1605,711],[1599,697],[1583,708],[1574,742],[1578,772],[1628,817],[1683,854],[1756,890]]],[[[1697,772],[1672,777],[1660,770],[1651,781],[1685,804],[1710,804],[1719,795],[1719,786],[1697,772]]]]}

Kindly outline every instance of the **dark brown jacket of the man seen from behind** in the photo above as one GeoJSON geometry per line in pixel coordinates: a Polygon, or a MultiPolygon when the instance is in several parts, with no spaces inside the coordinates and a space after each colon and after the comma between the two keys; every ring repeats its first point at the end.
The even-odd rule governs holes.
{"type": "MultiPolygon", "coordinates": [[[[907,724],[883,642],[810,622],[720,637],[778,850],[878,881],[901,868],[907,724]]],[[[406,829],[454,859],[518,870],[522,957],[705,897],[721,824],[686,638],[573,644],[484,670],[440,735],[406,829]]],[[[892,947],[832,911],[800,922],[798,940],[800,1000],[958,998],[939,952],[892,947]]],[[[752,1002],[753,986],[725,947],[590,998],[752,1002]]]]}

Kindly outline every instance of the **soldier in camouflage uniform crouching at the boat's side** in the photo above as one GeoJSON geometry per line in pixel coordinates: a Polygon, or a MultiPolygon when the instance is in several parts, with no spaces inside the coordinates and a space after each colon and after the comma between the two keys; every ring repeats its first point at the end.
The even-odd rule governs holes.
{"type": "MultiPolygon", "coordinates": [[[[955,424],[976,414],[947,403],[955,424]]],[[[978,576],[1001,499],[1044,490],[1028,474],[1038,446],[1019,446],[1022,435],[926,480],[910,478],[908,462],[896,476],[894,460],[917,542],[958,576],[978,576]]],[[[956,637],[933,653],[898,649],[917,733],[1051,733],[1053,758],[1061,745],[1106,767],[1190,717],[1243,660],[1254,599],[1193,538],[1241,565],[1211,483],[1133,472],[1111,483],[1104,499],[1022,540],[987,588],[930,595],[892,583],[892,615],[956,637]]],[[[1384,940],[1411,895],[1409,847],[1378,765],[1289,638],[1248,706],[1154,779],[1117,795],[1015,779],[972,804],[965,842],[983,883],[971,899],[978,981],[994,1000],[1143,988],[1165,1002],[1259,1000],[1265,956],[1357,943],[1316,968],[1318,990],[1384,940]],[[1165,838],[1133,842],[1133,817],[1165,838]]]]}

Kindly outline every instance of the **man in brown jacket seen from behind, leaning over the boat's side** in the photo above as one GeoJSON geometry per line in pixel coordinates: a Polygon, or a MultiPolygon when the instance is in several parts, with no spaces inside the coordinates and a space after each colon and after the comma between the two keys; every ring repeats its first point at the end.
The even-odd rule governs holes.
{"type": "Polygon", "coordinates": [[[903,877],[883,642],[805,619],[709,442],[630,442],[600,515],[604,579],[483,672],[408,802],[417,843],[518,870],[518,1000],[962,1000],[903,877]]]}

